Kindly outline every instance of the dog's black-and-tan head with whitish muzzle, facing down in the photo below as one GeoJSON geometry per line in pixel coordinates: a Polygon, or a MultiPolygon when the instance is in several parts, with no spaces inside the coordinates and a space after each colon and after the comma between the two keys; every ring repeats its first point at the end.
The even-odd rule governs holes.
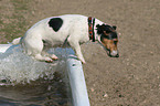
{"type": "Polygon", "coordinates": [[[119,57],[117,43],[118,43],[118,35],[116,32],[116,26],[110,26],[106,24],[96,25],[97,33],[100,35],[100,43],[107,50],[107,54],[110,57],[119,57]]]}

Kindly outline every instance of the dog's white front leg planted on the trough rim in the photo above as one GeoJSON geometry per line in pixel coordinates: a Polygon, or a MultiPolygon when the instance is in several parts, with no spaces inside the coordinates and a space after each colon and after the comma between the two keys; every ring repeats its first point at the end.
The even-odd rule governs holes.
{"type": "Polygon", "coordinates": [[[75,54],[76,54],[77,59],[78,59],[83,64],[85,64],[86,62],[85,62],[84,56],[83,56],[83,54],[82,54],[79,43],[78,43],[78,42],[70,42],[70,45],[71,45],[71,47],[75,51],[75,54]]]}

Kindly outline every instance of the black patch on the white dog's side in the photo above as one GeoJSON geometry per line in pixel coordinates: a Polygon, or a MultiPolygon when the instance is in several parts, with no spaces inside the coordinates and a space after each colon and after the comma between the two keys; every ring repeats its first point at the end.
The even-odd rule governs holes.
{"type": "Polygon", "coordinates": [[[53,18],[49,21],[49,25],[57,32],[63,24],[63,20],[61,18],[53,18]]]}

